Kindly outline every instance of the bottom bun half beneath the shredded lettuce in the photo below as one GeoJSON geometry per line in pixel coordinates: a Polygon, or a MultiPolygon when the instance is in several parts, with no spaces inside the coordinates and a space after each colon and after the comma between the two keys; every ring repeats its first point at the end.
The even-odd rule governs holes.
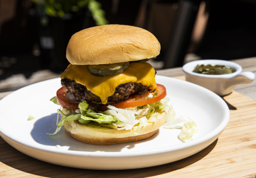
{"type": "Polygon", "coordinates": [[[138,126],[134,126],[131,130],[117,130],[102,127],[95,122],[83,125],[71,120],[65,122],[64,127],[68,134],[78,141],[95,145],[113,145],[149,138],[166,122],[166,118],[166,113],[163,112],[157,121],[143,126],[138,135],[134,134],[138,126]]]}

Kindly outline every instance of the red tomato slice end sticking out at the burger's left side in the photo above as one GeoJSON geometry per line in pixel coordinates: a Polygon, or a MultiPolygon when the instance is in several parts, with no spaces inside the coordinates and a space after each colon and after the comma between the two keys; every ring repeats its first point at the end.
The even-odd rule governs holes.
{"type": "Polygon", "coordinates": [[[65,92],[67,90],[64,87],[61,87],[58,91],[57,91],[57,101],[58,103],[70,110],[76,110],[78,109],[78,103],[73,103],[70,100],[67,100],[67,98],[65,98],[65,92]]]}

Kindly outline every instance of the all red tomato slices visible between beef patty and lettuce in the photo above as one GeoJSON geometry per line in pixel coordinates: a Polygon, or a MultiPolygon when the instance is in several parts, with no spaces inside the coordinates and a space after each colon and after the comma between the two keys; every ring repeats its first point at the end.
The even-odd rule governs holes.
{"type": "MultiPolygon", "coordinates": [[[[65,92],[66,92],[66,89],[64,87],[61,87],[57,91],[58,103],[61,106],[66,107],[67,109],[70,109],[70,110],[78,109],[77,103],[73,103],[73,102],[67,100],[67,98],[65,98],[65,92]]],[[[152,94],[153,94],[153,97],[149,98],[149,99],[141,99],[141,98],[143,98],[143,96],[132,95],[126,101],[122,101],[120,103],[112,103],[111,105],[118,107],[118,108],[126,108],[126,107],[142,106],[145,104],[152,104],[152,103],[160,101],[164,97],[166,97],[166,95],[167,95],[166,87],[164,87],[164,85],[157,84],[157,89],[152,94]]],[[[107,106],[108,106],[108,104],[96,104],[96,103],[94,103],[94,104],[89,103],[89,104],[94,107],[98,107],[98,109],[101,111],[107,110],[107,106]]]]}

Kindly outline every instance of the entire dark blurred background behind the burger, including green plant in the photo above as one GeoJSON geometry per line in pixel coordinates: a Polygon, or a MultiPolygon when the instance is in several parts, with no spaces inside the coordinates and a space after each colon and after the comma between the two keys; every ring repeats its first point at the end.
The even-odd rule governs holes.
{"type": "Polygon", "coordinates": [[[0,80],[68,65],[72,34],[102,24],[151,31],[161,43],[152,65],[174,68],[199,59],[256,56],[253,0],[0,0],[0,80]]]}

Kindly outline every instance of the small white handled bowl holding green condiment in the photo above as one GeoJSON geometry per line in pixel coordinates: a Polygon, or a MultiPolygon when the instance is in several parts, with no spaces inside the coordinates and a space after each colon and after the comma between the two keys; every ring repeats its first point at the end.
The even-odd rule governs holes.
{"type": "Polygon", "coordinates": [[[224,60],[207,59],[192,61],[183,65],[182,70],[185,74],[186,81],[201,85],[219,96],[226,96],[232,93],[235,85],[249,84],[255,78],[252,72],[242,72],[242,67],[238,63],[224,60]],[[222,75],[198,74],[192,72],[196,65],[202,64],[229,66],[235,69],[235,72],[222,75]]]}

